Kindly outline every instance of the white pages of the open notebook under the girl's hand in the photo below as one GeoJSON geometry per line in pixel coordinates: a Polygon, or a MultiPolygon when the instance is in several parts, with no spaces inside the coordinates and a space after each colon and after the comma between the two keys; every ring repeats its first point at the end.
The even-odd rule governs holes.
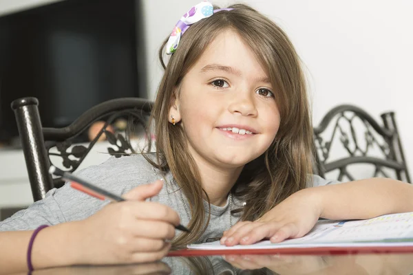
{"type": "Polygon", "coordinates": [[[299,239],[281,243],[260,241],[253,245],[227,247],[220,241],[188,245],[192,250],[261,250],[276,248],[413,247],[413,212],[387,214],[366,220],[320,220],[299,239]]]}

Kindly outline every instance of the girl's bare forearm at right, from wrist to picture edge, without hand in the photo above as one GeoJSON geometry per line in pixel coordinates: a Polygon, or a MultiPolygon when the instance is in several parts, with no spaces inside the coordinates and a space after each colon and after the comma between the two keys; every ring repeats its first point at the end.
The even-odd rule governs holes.
{"type": "Polygon", "coordinates": [[[362,179],[316,188],[320,217],[326,219],[370,219],[413,211],[413,186],[394,179],[362,179]]]}

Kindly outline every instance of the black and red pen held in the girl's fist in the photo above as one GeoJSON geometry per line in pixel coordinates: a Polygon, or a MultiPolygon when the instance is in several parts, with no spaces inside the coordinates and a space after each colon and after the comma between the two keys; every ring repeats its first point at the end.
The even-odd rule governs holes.
{"type": "MultiPolygon", "coordinates": [[[[52,175],[56,175],[59,177],[62,177],[63,179],[66,179],[68,181],[74,181],[71,183],[71,186],[77,190],[80,190],[82,192],[85,192],[87,195],[90,195],[92,197],[96,197],[98,199],[104,200],[105,198],[107,199],[112,199],[113,201],[125,201],[123,197],[120,197],[118,195],[115,195],[112,192],[109,192],[105,189],[102,189],[98,186],[95,186],[94,184],[91,184],[85,179],[81,179],[80,177],[76,177],[70,172],[65,172],[56,166],[50,166],[49,168],[49,173],[52,175]],[[85,189],[87,188],[87,189],[85,189]],[[92,192],[90,192],[91,190],[92,192]],[[97,194],[97,195],[96,195],[97,194]]],[[[189,231],[188,228],[184,227],[184,225],[178,224],[175,226],[176,229],[184,231],[184,232],[191,232],[189,231]]]]}

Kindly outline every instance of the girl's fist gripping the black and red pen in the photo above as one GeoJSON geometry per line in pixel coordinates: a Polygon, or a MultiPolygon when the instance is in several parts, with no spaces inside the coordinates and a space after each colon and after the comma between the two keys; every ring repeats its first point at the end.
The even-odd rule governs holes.
{"type": "Polygon", "coordinates": [[[127,201],[109,203],[79,221],[76,263],[142,263],[166,256],[180,218],[168,206],[145,201],[161,188],[162,181],[138,186],[123,196],[127,201]]]}

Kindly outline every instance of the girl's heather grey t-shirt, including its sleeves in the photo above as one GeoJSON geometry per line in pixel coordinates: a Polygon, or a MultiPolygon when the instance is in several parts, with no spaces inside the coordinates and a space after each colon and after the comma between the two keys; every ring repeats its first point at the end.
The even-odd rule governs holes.
{"type": "MultiPolygon", "coordinates": [[[[142,155],[111,157],[103,164],[90,166],[76,174],[120,195],[140,184],[148,184],[162,178],[162,173],[153,168],[142,155]]],[[[158,195],[152,197],[151,201],[158,201],[173,208],[178,212],[182,225],[187,225],[189,217],[191,217],[188,202],[179,192],[179,187],[172,174],[167,173],[165,179],[167,182],[162,190],[158,195]]],[[[337,182],[322,179],[317,175],[314,175],[313,179],[313,186],[324,186],[337,182]]],[[[21,210],[0,222],[0,231],[34,230],[42,224],[56,225],[66,221],[86,219],[107,203],[109,201],[101,201],[65,184],[62,188],[54,188],[47,192],[45,199],[36,201],[28,209],[21,210]]],[[[204,203],[208,209],[207,202],[204,201],[204,203]]],[[[242,201],[237,197],[233,197],[232,203],[227,201],[226,205],[222,207],[211,205],[211,220],[199,241],[204,242],[208,238],[222,236],[222,232],[231,227],[230,220],[235,224],[240,218],[240,214],[233,214],[230,219],[230,211],[240,207],[242,207],[242,201]],[[229,207],[230,204],[232,209],[229,207]]]]}

